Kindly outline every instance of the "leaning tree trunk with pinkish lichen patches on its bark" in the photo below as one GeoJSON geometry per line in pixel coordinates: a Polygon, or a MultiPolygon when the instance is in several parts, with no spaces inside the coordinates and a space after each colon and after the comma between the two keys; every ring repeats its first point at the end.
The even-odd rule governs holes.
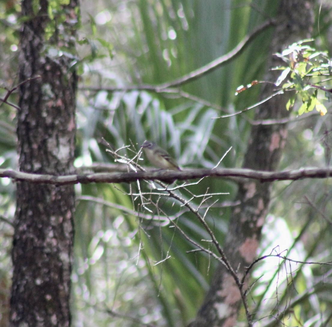
{"type": "MultiPolygon", "coordinates": [[[[273,56],[289,44],[310,37],[313,26],[313,0],[281,0],[269,53],[267,72],[264,80],[275,82],[279,72],[271,71],[280,64],[273,56]]],[[[254,57],[254,54],[253,54],[254,57]]],[[[274,93],[274,85],[265,84],[261,99],[274,93]]],[[[288,95],[278,95],[261,105],[255,120],[281,119],[289,116],[285,106],[288,95]]],[[[249,138],[243,168],[274,171],[279,164],[287,137],[287,125],[255,125],[249,138]]],[[[239,278],[246,267],[256,258],[270,203],[271,183],[255,181],[239,185],[237,201],[233,209],[224,251],[239,278]]],[[[245,288],[246,286],[244,286],[245,288]]],[[[243,303],[239,288],[223,266],[215,272],[206,299],[200,308],[192,327],[235,326],[239,308],[243,303]]]]}

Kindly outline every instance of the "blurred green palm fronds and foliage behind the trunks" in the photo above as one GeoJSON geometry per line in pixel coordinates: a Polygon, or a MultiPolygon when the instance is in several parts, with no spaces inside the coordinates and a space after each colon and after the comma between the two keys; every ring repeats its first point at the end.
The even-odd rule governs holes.
{"type": "MultiPolygon", "coordinates": [[[[82,26],[73,62],[80,73],[76,167],[115,162],[102,139],[129,159],[145,139],[154,140],[184,168],[213,168],[231,147],[219,167],[240,167],[254,109],[215,118],[258,101],[259,85],[238,95],[235,91],[239,85],[263,78],[272,28],[259,34],[235,60],[183,85],[181,92],[158,93],[139,87],[111,92],[107,88],[175,80],[233,49],[245,35],[274,17],[278,6],[279,1],[268,0],[82,0],[82,26]]],[[[1,96],[18,81],[19,11],[19,2],[0,1],[1,96]]],[[[329,2],[317,4],[313,35],[315,46],[328,51],[331,12],[329,2]]],[[[17,92],[9,101],[18,102],[17,92]]],[[[281,169],[330,164],[331,105],[325,105],[328,114],[324,117],[313,113],[296,120],[293,115],[281,169]]],[[[0,168],[17,168],[15,115],[15,108],[1,104],[0,168]]],[[[171,221],[191,239],[214,249],[202,241],[208,239],[207,232],[195,216],[156,187],[149,182],[76,185],[73,326],[136,326],[134,317],[146,324],[182,326],[195,317],[216,262],[201,252],[188,252],[195,247],[171,221]]],[[[206,221],[222,243],[236,184],[210,178],[175,192],[194,207],[201,205],[202,213],[209,208],[206,221]],[[214,195],[199,197],[205,193],[214,195]]],[[[330,180],[275,183],[261,254],[288,249],[295,260],[331,261],[330,199],[330,180]]],[[[1,179],[3,320],[8,307],[14,206],[15,187],[1,179]]],[[[289,325],[300,320],[309,322],[306,326],[318,326],[322,312],[332,312],[330,268],[284,264],[277,258],[257,265],[254,278],[252,308],[257,320],[272,312],[289,325]],[[322,289],[318,286],[323,275],[322,289]],[[315,291],[305,296],[310,287],[315,291]],[[283,308],[296,296],[293,311],[284,318],[283,308]]]]}

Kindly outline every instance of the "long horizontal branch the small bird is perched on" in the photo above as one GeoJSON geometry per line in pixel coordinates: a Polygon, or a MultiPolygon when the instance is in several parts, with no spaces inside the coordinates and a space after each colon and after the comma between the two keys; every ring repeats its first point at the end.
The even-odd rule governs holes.
{"type": "Polygon", "coordinates": [[[186,169],[183,171],[151,170],[138,172],[86,173],[66,176],[24,173],[11,169],[0,169],[0,177],[12,178],[16,181],[43,183],[54,185],[86,184],[86,183],[130,183],[137,180],[189,180],[202,177],[253,179],[261,182],[298,180],[304,178],[327,178],[332,176],[330,168],[301,168],[281,172],[257,171],[252,169],[186,169]]]}

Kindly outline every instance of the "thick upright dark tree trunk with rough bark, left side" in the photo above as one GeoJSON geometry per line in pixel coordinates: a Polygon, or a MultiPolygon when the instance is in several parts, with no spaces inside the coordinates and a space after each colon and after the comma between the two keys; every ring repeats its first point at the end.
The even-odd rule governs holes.
{"type": "MultiPolygon", "coordinates": [[[[64,175],[73,173],[77,76],[69,69],[72,58],[59,49],[74,49],[77,0],[51,11],[49,5],[22,1],[19,166],[23,172],[64,175]]],[[[17,183],[11,326],[70,325],[73,212],[72,185],[17,183]]]]}

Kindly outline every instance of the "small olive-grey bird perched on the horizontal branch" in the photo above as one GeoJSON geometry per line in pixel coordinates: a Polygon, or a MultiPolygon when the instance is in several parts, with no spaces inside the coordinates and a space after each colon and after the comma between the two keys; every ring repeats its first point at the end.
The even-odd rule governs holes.
{"type": "Polygon", "coordinates": [[[144,141],[142,148],[149,161],[161,169],[181,170],[176,161],[156,143],[144,141]]]}

